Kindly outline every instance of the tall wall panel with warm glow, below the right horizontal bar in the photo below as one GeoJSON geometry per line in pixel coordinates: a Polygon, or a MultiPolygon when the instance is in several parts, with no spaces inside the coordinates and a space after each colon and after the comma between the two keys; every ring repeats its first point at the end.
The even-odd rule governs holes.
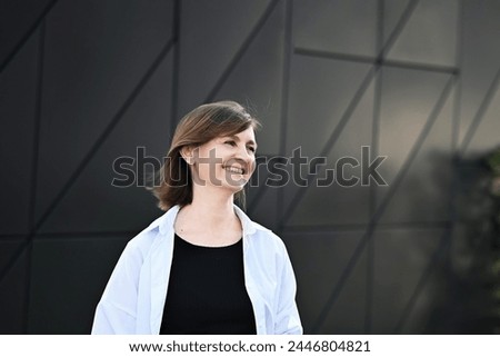
{"type": "Polygon", "coordinates": [[[440,97],[449,78],[418,70],[383,70],[379,155],[388,158],[379,172],[389,185],[377,187],[377,205],[389,192],[394,200],[384,214],[386,222],[448,219],[451,101],[442,109],[440,97]],[[440,115],[432,118],[438,109],[440,115]],[[402,168],[408,168],[404,177],[402,168]]]}

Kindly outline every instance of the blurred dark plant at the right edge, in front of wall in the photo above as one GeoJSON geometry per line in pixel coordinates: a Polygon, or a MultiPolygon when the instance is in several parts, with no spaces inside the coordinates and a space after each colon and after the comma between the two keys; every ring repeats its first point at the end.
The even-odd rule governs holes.
{"type": "MultiPolygon", "coordinates": [[[[500,147],[456,161],[451,285],[462,331],[500,334],[500,147]]],[[[461,331],[460,331],[461,333],[461,331]]]]}

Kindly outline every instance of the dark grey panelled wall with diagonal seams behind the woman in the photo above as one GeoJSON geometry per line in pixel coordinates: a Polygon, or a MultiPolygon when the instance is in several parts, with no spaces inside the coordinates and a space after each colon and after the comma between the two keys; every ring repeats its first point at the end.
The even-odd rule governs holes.
{"type": "Polygon", "coordinates": [[[499,19],[498,0],[0,1],[0,333],[90,331],[161,214],[111,186],[113,160],[161,158],[183,113],[228,98],[263,122],[261,156],[387,156],[384,187],[249,190],[306,333],[490,333],[452,163],[500,143],[499,19]]]}

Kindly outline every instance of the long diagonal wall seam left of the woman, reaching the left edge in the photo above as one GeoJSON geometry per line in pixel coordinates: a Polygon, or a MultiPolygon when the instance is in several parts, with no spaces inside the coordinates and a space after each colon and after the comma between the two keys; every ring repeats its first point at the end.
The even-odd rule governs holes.
{"type": "Polygon", "coordinates": [[[27,240],[23,245],[21,245],[20,249],[13,255],[13,257],[9,260],[9,264],[7,267],[0,271],[0,282],[2,279],[7,276],[9,270],[12,268],[12,266],[16,262],[16,259],[30,246],[31,240],[37,234],[37,230],[44,224],[44,221],[50,217],[50,215],[54,211],[57,206],[60,204],[60,201],[64,198],[64,196],[68,194],[68,191],[71,189],[71,187],[74,185],[76,180],[79,178],[79,176],[83,172],[86,167],[89,165],[89,162],[92,160],[93,156],[99,151],[101,146],[106,142],[108,137],[111,135],[111,132],[114,130],[117,125],[120,122],[123,115],[127,112],[127,110],[130,108],[130,106],[133,103],[136,98],[139,96],[141,90],[144,88],[144,86],[148,83],[149,79],[152,77],[152,75],[156,72],[158,67],[161,65],[163,59],[167,57],[167,54],[170,52],[170,50],[173,47],[173,40],[170,39],[167,44],[162,48],[158,57],[154,59],[150,68],[147,70],[146,75],[141,78],[139,83],[136,86],[136,88],[132,90],[130,96],[127,98],[127,100],[123,102],[121,108],[117,111],[117,113],[113,116],[112,120],[108,123],[106,129],[102,131],[102,133],[99,136],[99,138],[96,140],[93,146],[90,148],[90,150],[87,152],[87,155],[83,157],[83,159],[80,161],[77,169],[73,171],[73,173],[70,176],[68,181],[62,186],[62,189],[59,191],[59,194],[56,196],[56,198],[50,204],[49,208],[43,212],[41,218],[38,220],[38,222],[34,225],[33,229],[27,235],[27,240]]]}

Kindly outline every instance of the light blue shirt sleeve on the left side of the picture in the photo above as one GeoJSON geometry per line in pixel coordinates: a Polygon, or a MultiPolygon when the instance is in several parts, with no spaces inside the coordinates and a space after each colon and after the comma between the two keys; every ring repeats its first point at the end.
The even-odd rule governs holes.
{"type": "Polygon", "coordinates": [[[97,306],[92,335],[136,334],[141,255],[129,245],[123,250],[97,306]]]}

